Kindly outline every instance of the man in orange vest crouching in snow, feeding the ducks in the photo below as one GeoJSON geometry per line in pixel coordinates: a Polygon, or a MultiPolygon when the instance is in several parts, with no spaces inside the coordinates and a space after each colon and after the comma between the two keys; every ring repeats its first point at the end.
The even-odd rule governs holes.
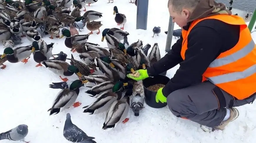
{"type": "Polygon", "coordinates": [[[138,72],[142,80],[180,64],[173,78],[157,91],[156,102],[201,124],[205,131],[223,130],[252,103],[256,92],[256,47],[243,18],[214,0],[169,0],[182,36],[153,66],[138,72]]]}

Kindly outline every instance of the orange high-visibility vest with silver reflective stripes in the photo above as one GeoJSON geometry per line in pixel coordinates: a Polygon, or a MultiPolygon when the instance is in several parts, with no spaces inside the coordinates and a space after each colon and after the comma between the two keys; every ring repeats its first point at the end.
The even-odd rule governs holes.
{"type": "Polygon", "coordinates": [[[239,100],[251,96],[256,92],[256,45],[245,21],[241,17],[216,15],[193,21],[188,31],[182,30],[183,41],[180,53],[182,59],[186,58],[185,52],[189,32],[197,23],[205,19],[217,19],[231,25],[240,25],[240,38],[235,47],[221,53],[219,57],[211,62],[202,75],[203,81],[209,80],[239,100]]]}

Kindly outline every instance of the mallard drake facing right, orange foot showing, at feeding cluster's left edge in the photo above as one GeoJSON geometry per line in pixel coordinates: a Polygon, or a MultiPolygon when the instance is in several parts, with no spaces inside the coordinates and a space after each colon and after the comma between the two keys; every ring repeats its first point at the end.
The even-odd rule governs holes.
{"type": "Polygon", "coordinates": [[[44,64],[44,66],[52,71],[54,74],[59,75],[62,81],[68,81],[68,79],[63,79],[61,76],[72,76],[74,73],[82,78],[82,74],[79,72],[79,69],[75,66],[69,65],[67,62],[58,60],[47,60],[41,63],[44,64]]]}

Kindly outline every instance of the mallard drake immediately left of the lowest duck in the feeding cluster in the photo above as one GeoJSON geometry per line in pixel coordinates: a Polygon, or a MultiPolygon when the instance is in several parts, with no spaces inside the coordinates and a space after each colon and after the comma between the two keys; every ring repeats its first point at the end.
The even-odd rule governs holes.
{"type": "Polygon", "coordinates": [[[83,113],[89,113],[92,115],[107,111],[114,101],[121,98],[122,91],[120,88],[122,86],[122,84],[117,83],[113,86],[112,91],[105,91],[101,93],[90,105],[83,107],[85,108],[83,113]]]}

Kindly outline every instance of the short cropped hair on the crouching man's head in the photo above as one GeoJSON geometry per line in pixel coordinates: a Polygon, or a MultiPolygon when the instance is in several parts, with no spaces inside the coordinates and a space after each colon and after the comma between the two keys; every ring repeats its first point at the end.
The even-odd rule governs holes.
{"type": "Polygon", "coordinates": [[[200,0],[169,0],[169,5],[172,5],[175,12],[181,12],[183,8],[194,9],[200,0]]]}

